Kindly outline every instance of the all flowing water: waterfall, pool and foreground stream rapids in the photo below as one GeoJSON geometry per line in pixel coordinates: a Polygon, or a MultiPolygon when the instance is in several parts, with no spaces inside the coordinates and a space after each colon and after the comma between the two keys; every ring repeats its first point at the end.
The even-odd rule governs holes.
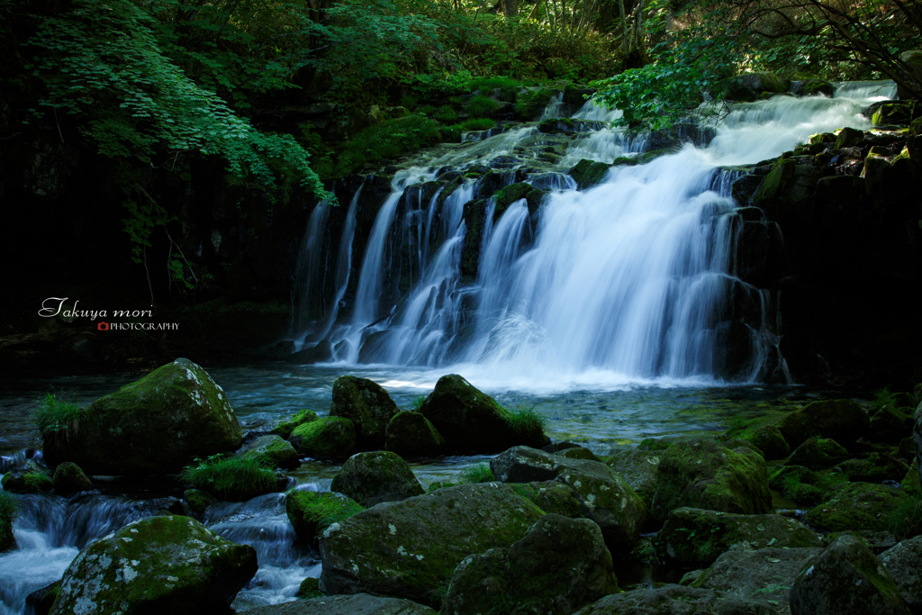
{"type": "MultiPolygon", "coordinates": [[[[647,164],[614,167],[583,191],[561,172],[574,159],[633,157],[647,148],[646,137],[599,124],[573,140],[557,168],[523,171],[523,144],[543,138],[524,126],[398,171],[366,245],[354,245],[358,192],[337,241],[322,241],[331,218],[325,205],[314,210],[305,234],[297,291],[304,302],[317,302],[323,317],[310,324],[296,319],[302,327],[296,342],[300,348],[326,339],[337,361],[206,367],[247,431],[300,408],[325,414],[332,383],[343,373],[384,385],[401,408],[411,408],[440,375],[461,373],[506,407],[534,408],[554,440],[578,442],[600,455],[647,437],[726,429],[731,419],[822,396],[803,387],[727,385],[712,365],[715,318],[733,278],[728,261],[737,232],[729,184],[739,171],[726,167],[772,158],[813,133],[868,128],[860,110],[892,96],[892,85],[844,84],[838,93],[740,106],[716,126],[707,147],[690,144],[647,164]],[[491,199],[477,275],[466,279],[465,206],[482,180],[462,180],[447,198],[441,198],[443,188],[424,197],[418,187],[445,168],[464,171],[475,164],[502,170],[504,183],[521,171],[550,195],[538,216],[521,199],[495,217],[491,199]],[[412,249],[401,252],[407,245],[412,249]],[[396,302],[384,301],[400,258],[408,259],[413,283],[396,302]],[[334,294],[318,296],[326,276],[334,280],[334,294]],[[363,352],[370,364],[356,363],[363,352]]],[[[560,101],[552,102],[557,106],[549,116],[560,112],[560,101]]],[[[607,123],[617,112],[587,104],[577,116],[607,123]]],[[[749,379],[760,373],[775,343],[762,299],[762,323],[751,327],[759,335],[753,337],[749,379]]],[[[137,377],[42,375],[2,382],[2,469],[29,458],[41,462],[33,428],[41,396],[53,392],[85,407],[137,377]]],[[[426,485],[452,479],[482,459],[441,457],[411,465],[426,485]]],[[[307,460],[290,474],[297,489],[323,491],[336,472],[335,464],[307,460]]],[[[0,554],[0,615],[26,612],[26,596],[59,579],[90,540],[161,510],[171,502],[164,498],[182,493],[164,484],[100,484],[102,491],[70,499],[18,498],[17,549],[0,554]]],[[[257,551],[259,571],[238,596],[238,609],[290,600],[304,577],[320,573],[318,554],[294,540],[282,494],[216,504],[203,521],[257,551]]]]}

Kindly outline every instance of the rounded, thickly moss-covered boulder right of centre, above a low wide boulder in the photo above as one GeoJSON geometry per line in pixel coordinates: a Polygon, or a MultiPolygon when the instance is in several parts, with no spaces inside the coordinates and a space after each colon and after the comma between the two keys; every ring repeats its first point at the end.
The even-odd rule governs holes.
{"type": "Polygon", "coordinates": [[[737,514],[767,513],[772,493],[765,460],[745,441],[721,444],[693,438],[663,453],[656,477],[653,514],[666,519],[680,506],[737,514]]]}

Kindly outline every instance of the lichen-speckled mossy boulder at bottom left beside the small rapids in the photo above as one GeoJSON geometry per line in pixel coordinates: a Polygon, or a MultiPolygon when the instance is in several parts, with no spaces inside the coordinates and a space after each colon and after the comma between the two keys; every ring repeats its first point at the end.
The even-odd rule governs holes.
{"type": "Polygon", "coordinates": [[[256,551],[187,516],[130,523],[80,551],[54,615],[188,613],[228,609],[256,573],[256,551]]]}

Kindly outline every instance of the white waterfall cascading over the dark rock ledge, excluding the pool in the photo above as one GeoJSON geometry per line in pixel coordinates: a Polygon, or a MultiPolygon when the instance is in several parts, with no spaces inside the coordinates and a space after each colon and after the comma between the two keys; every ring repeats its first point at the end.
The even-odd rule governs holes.
{"type": "MultiPolygon", "coordinates": [[[[728,289],[742,284],[730,271],[739,232],[733,216],[738,204],[729,196],[736,175],[719,168],[772,159],[814,133],[844,126],[867,130],[869,120],[860,111],[893,94],[892,84],[845,84],[832,99],[778,96],[737,105],[707,147],[687,144],[648,164],[614,167],[603,183],[585,191],[553,172],[529,175],[526,181],[551,188],[535,236],[524,201],[508,207],[494,225],[491,200],[476,280],[460,279],[465,204],[461,196],[449,199],[442,215],[456,224],[455,231],[444,233],[431,259],[420,259],[422,274],[405,297],[379,305],[379,280],[393,265],[384,258],[384,245],[399,235],[392,228],[394,211],[408,176],[426,175],[406,171],[395,179],[372,229],[360,294],[343,337],[349,351],[338,359],[356,361],[362,340],[375,334],[365,361],[462,373],[493,390],[713,383],[717,325],[727,310],[728,289]]],[[[561,170],[582,158],[610,161],[642,151],[643,137],[631,140],[608,124],[619,116],[586,103],[575,117],[605,127],[574,141],[561,170]]],[[[489,165],[535,136],[529,126],[507,131],[432,160],[431,169],[489,165]]],[[[512,170],[503,160],[511,183],[512,170]]],[[[425,216],[406,217],[417,235],[429,237],[421,220],[431,220],[434,201],[420,204],[425,216]]],[[[428,241],[423,244],[428,249],[428,241]]],[[[777,355],[765,313],[767,291],[748,291],[763,311],[761,325],[748,325],[752,349],[744,379],[759,375],[777,355]]]]}

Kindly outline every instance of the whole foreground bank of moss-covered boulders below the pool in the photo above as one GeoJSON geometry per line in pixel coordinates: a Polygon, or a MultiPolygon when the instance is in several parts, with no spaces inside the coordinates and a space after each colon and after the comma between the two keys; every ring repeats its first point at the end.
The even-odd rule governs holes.
{"type": "Polygon", "coordinates": [[[104,488],[106,472],[171,481],[182,497],[89,543],[61,582],[30,597],[36,612],[227,609],[258,558],[198,520],[221,501],[285,491],[296,540],[319,550],[319,583],[254,613],[909,613],[922,566],[920,397],[922,387],[870,406],[816,401],[715,438],[597,455],[549,443],[538,416],[460,376],[444,376],[416,410],[345,376],[328,416],[305,410],[241,437],[224,425],[238,421],[219,385],[177,360],[88,408],[44,408],[44,455],[2,480],[0,538],[19,498],[77,497],[104,488]],[[87,450],[129,444],[136,455],[122,467],[94,466],[87,450]],[[428,489],[403,458],[471,452],[489,465],[428,489]],[[331,491],[287,475],[317,456],[346,459],[331,491]],[[651,562],[687,574],[619,584],[618,571],[651,562]]]}

